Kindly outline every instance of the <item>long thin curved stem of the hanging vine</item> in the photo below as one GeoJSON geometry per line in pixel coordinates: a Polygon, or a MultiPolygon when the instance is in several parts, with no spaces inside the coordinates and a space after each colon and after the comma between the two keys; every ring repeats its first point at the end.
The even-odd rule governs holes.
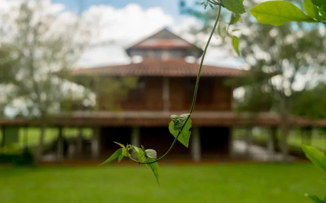
{"type": "Polygon", "coordinates": [[[219,12],[218,12],[218,16],[216,17],[216,20],[215,20],[215,23],[214,23],[214,26],[213,26],[213,29],[209,35],[209,38],[208,38],[208,41],[206,43],[206,46],[205,46],[205,49],[204,49],[204,52],[203,52],[203,56],[202,56],[202,59],[200,61],[200,64],[199,64],[199,70],[198,70],[198,74],[197,74],[197,80],[196,80],[196,85],[195,85],[195,92],[194,92],[194,98],[193,98],[193,103],[192,103],[192,107],[189,111],[189,116],[187,117],[187,119],[185,120],[185,122],[183,123],[183,126],[182,128],[179,130],[178,132],[178,135],[175,137],[170,149],[161,157],[159,157],[158,159],[154,160],[154,161],[151,161],[151,162],[141,162],[141,161],[138,161],[138,160],[135,160],[133,159],[130,155],[128,156],[130,160],[132,160],[133,162],[136,162],[136,163],[139,163],[139,164],[151,164],[151,163],[155,163],[159,160],[161,160],[162,158],[166,157],[173,149],[174,145],[176,144],[176,142],[178,141],[178,138],[184,128],[184,126],[186,125],[187,121],[189,120],[189,118],[191,117],[191,114],[193,113],[194,111],[194,108],[195,108],[195,103],[196,103],[196,98],[197,98],[197,92],[198,92],[198,86],[199,86],[199,79],[200,79],[200,74],[202,72],[202,67],[203,67],[203,63],[204,63],[204,59],[205,59],[205,55],[206,55],[206,52],[207,52],[207,49],[208,49],[208,46],[209,46],[209,43],[214,35],[214,31],[216,29],[216,26],[218,26],[218,22],[220,20],[220,16],[221,16],[221,8],[222,7],[222,4],[219,5],[219,12]]]}

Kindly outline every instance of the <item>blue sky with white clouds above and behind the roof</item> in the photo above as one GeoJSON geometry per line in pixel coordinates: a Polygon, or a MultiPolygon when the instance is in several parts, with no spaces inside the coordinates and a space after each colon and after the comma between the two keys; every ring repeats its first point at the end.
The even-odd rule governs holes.
{"type": "MultiPolygon", "coordinates": [[[[0,12],[14,2],[21,0],[0,0],[0,12]]],[[[33,2],[34,0],[30,0],[33,2]]],[[[48,10],[69,13],[63,17],[67,23],[73,16],[82,15],[90,29],[92,37],[90,46],[79,56],[76,66],[97,67],[111,64],[129,63],[124,49],[149,37],[156,31],[168,27],[171,31],[189,42],[194,36],[189,34],[193,26],[201,26],[201,22],[193,17],[179,13],[178,0],[38,0],[43,1],[48,10]]],[[[187,0],[188,5],[195,1],[187,0]]],[[[200,36],[206,41],[208,36],[200,36]]],[[[213,41],[216,40],[213,38],[213,41]]],[[[241,67],[243,64],[234,55],[226,55],[221,48],[210,48],[205,63],[216,66],[241,67]]]]}

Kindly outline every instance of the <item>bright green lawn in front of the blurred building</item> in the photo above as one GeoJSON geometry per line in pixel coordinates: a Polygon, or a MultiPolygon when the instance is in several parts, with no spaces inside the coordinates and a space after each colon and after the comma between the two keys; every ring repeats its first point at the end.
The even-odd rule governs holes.
{"type": "Polygon", "coordinates": [[[0,168],[0,202],[311,202],[325,195],[312,164],[0,168]]]}

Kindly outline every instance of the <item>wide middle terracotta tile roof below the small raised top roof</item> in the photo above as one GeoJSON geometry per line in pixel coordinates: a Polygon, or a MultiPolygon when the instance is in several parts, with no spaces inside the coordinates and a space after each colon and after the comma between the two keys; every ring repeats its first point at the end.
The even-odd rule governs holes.
{"type": "MultiPolygon", "coordinates": [[[[145,59],[140,63],[78,69],[74,70],[72,75],[195,77],[198,73],[198,67],[198,63],[189,63],[184,59],[145,59]]],[[[228,67],[204,65],[201,76],[237,77],[243,75],[244,72],[228,67]]]]}

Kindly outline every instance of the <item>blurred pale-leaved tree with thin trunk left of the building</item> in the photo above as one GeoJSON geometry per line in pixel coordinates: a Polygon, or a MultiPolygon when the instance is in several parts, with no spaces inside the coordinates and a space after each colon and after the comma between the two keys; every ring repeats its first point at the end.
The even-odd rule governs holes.
{"type": "Polygon", "coordinates": [[[78,17],[52,11],[48,4],[23,1],[10,13],[0,14],[7,22],[1,27],[0,83],[11,88],[11,101],[20,101],[24,115],[40,118],[36,160],[43,151],[50,114],[58,110],[62,99],[70,97],[65,90],[76,88],[53,72],[69,73],[89,38],[78,17]]]}

